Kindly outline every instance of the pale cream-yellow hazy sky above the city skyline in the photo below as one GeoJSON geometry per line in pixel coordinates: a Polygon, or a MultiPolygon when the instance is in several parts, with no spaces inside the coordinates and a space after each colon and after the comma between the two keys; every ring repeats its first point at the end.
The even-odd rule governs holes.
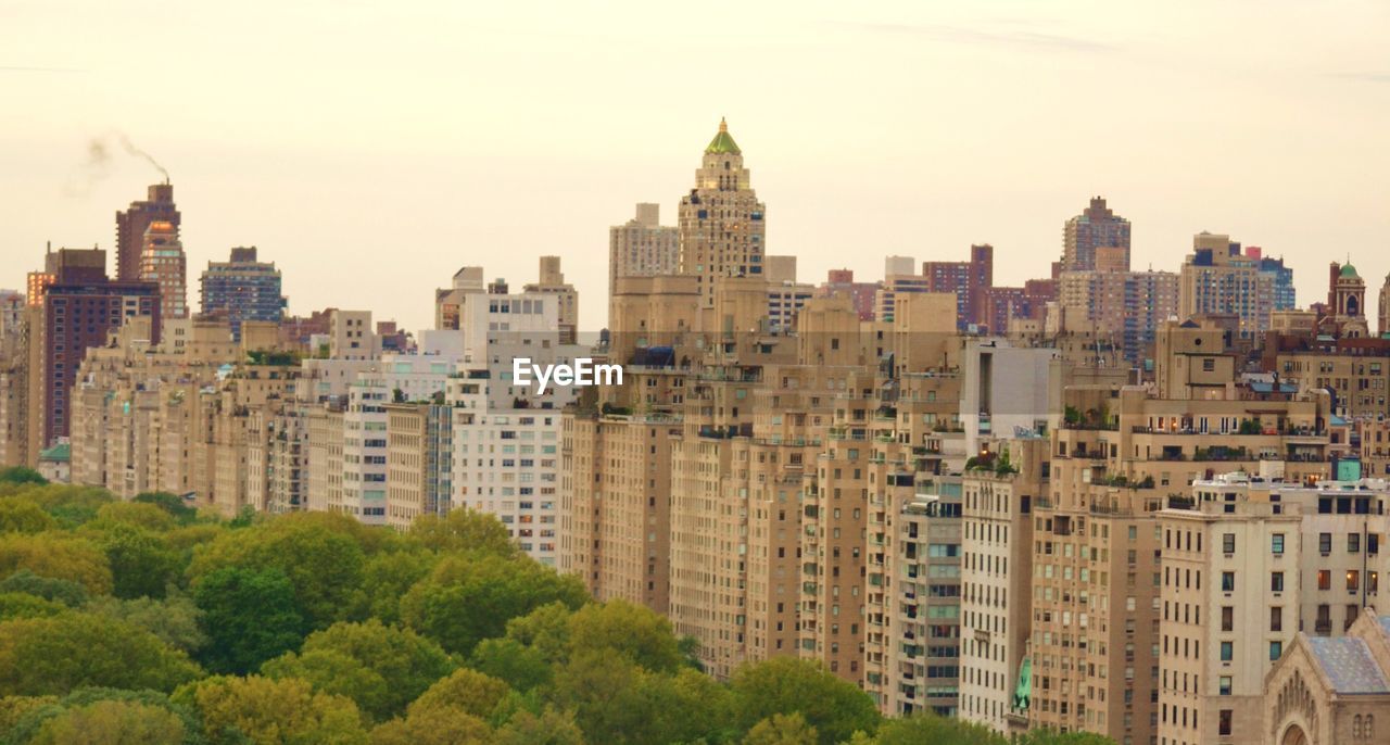
{"type": "Polygon", "coordinates": [[[1205,229],[1283,256],[1300,304],[1350,256],[1373,303],[1387,31],[1379,0],[0,0],[0,286],[50,240],[114,260],[161,178],[124,133],[171,174],[193,306],[254,245],[292,313],[425,328],[459,267],[518,288],[559,254],[596,329],[609,227],[674,224],[727,117],[802,281],[987,242],[1019,285],[1102,195],[1136,268],[1205,229]]]}

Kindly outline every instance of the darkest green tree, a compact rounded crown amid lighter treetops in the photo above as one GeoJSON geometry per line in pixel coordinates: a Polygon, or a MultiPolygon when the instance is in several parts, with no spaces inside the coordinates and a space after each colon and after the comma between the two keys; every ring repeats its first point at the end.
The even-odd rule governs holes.
{"type": "Polygon", "coordinates": [[[200,659],[214,673],[245,674],[299,646],[304,617],[295,588],[277,567],[225,567],[193,589],[207,646],[200,659]]]}

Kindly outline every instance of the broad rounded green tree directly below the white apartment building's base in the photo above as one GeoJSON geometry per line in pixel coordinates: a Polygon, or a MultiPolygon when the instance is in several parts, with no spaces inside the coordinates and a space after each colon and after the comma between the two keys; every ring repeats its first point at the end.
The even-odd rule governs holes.
{"type": "Polygon", "coordinates": [[[450,556],[402,598],[400,619],[446,650],[467,655],[480,641],[500,637],[509,619],[556,600],[580,607],[587,599],[578,578],[531,559],[450,556]]]}

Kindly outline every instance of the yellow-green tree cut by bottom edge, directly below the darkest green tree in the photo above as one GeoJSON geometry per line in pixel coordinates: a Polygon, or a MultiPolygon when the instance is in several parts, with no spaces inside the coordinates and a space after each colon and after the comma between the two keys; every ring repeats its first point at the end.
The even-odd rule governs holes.
{"type": "Polygon", "coordinates": [[[366,745],[352,699],[314,692],[302,680],[213,677],[174,694],[203,717],[213,745],[366,745]]]}

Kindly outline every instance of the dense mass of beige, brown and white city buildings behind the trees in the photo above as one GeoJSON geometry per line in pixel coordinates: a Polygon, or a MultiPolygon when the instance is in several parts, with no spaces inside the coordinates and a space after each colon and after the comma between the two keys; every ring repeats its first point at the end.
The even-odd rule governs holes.
{"type": "Polygon", "coordinates": [[[33,252],[4,293],[7,473],[213,521],[482,518],[667,619],[714,681],[809,660],[883,717],[1387,737],[1390,277],[1332,260],[1298,297],[1282,259],[1205,231],[1136,270],[1123,207],[1081,195],[1022,286],[990,245],[812,281],[712,129],[673,147],[698,158],[673,225],[642,203],[609,229],[598,334],[562,256],[520,286],[438,278],[431,328],[292,316],[254,246],[192,278],[175,185],[150,185],[114,250],[33,252]],[[619,375],[537,386],[521,359],[619,375]]]}

